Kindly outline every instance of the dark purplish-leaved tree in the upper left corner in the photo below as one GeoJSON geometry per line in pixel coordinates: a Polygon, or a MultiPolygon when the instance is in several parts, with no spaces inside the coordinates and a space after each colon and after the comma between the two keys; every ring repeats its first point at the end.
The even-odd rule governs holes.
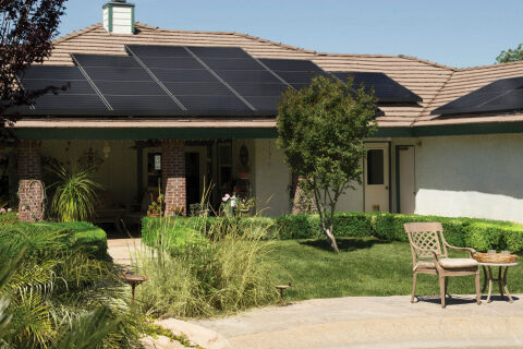
{"type": "Polygon", "coordinates": [[[42,62],[58,35],[66,0],[0,0],[0,131],[16,121],[9,109],[29,105],[35,98],[65,86],[24,91],[17,76],[33,63],[42,62]]]}

